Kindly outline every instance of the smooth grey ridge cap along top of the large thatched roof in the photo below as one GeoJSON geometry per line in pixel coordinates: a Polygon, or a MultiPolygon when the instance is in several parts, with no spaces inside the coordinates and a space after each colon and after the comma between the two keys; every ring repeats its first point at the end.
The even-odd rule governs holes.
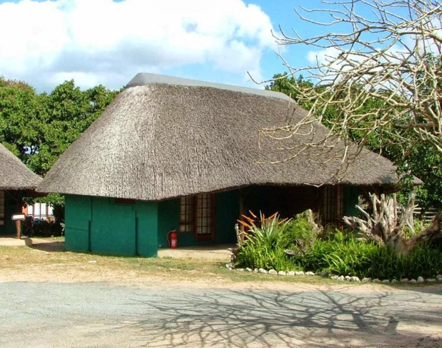
{"type": "Polygon", "coordinates": [[[125,88],[134,87],[134,86],[145,86],[150,83],[166,83],[178,86],[219,88],[228,91],[262,95],[263,97],[280,98],[280,99],[285,99],[287,101],[293,101],[293,99],[291,99],[288,95],[285,95],[284,93],[281,92],[274,92],[258,88],[232,86],[224,83],[183,79],[181,77],[151,74],[148,72],[139,72],[137,75],[135,75],[135,77],[133,77],[133,79],[129,81],[129,83],[125,86],[125,88]]]}

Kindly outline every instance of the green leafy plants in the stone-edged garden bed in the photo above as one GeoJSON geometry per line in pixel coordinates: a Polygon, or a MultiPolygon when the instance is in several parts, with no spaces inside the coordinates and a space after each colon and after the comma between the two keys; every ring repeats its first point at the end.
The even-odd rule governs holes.
{"type": "MultiPolygon", "coordinates": [[[[408,256],[389,246],[355,238],[335,230],[317,236],[306,212],[290,221],[260,217],[243,222],[249,233],[236,255],[239,267],[277,271],[322,271],[379,279],[434,277],[442,273],[442,251],[419,244],[408,256]],[[304,240],[303,240],[304,238],[304,240]],[[287,249],[296,250],[289,256],[287,249]]],[[[419,228],[419,227],[418,227],[419,228]]]]}

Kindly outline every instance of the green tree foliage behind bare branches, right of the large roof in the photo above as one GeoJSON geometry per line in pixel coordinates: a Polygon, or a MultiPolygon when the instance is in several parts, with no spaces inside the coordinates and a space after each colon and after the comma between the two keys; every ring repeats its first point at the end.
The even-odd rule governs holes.
{"type": "MultiPolygon", "coordinates": [[[[266,88],[291,95],[302,107],[309,110],[311,105],[300,99],[299,88],[312,87],[312,83],[303,79],[302,76],[297,79],[293,76],[284,76],[286,76],[286,73],[275,74],[273,76],[274,81],[266,88]]],[[[357,90],[357,88],[354,89],[357,90]]],[[[359,92],[360,89],[354,95],[359,95],[359,92]]],[[[370,114],[373,110],[382,109],[383,103],[384,101],[381,98],[368,98],[361,105],[358,113],[370,114]]],[[[336,110],[334,106],[328,106],[324,112],[324,125],[331,127],[333,122],[339,122],[338,115],[340,115],[339,110],[336,110]]],[[[364,144],[366,148],[374,152],[381,153],[397,166],[398,174],[402,178],[398,186],[398,189],[400,189],[398,195],[400,203],[406,202],[411,189],[410,184],[414,180],[413,176],[415,176],[423,181],[423,185],[415,187],[419,205],[424,208],[442,208],[442,155],[431,144],[419,141],[419,139],[416,140],[416,132],[413,129],[400,130],[402,139],[410,140],[410,146],[408,147],[404,147],[403,142],[397,142],[396,133],[398,129],[390,123],[367,133],[365,128],[370,127],[374,121],[376,119],[373,115],[364,117],[364,120],[359,122],[358,127],[355,125],[348,130],[349,139],[364,144]]]]}

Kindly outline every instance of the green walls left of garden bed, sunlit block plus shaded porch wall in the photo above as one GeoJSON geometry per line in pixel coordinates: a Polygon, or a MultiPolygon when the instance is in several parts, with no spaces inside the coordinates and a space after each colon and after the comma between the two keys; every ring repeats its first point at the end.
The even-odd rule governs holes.
{"type": "MultiPolygon", "coordinates": [[[[178,234],[179,246],[236,242],[238,191],[215,195],[215,238],[196,242],[178,234]]],[[[114,198],[66,195],[65,246],[72,251],[156,256],[167,248],[167,234],[179,230],[179,199],[118,204],[114,198]]]]}

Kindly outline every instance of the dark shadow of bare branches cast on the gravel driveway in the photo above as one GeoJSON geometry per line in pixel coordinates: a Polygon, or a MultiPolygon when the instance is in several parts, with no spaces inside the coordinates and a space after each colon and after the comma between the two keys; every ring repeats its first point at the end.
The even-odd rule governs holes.
{"type": "MultiPolygon", "coordinates": [[[[416,311],[392,292],[164,291],[132,299],[142,318],[118,329],[149,347],[438,347],[430,333],[408,324],[442,325],[441,307],[416,311]],[[221,294],[221,295],[220,295],[221,294]],[[401,326],[402,325],[402,326],[401,326]],[[398,331],[398,326],[401,330],[398,331]],[[411,345],[410,345],[411,344],[411,345]]],[[[438,297],[440,301],[440,297],[438,297]]]]}

